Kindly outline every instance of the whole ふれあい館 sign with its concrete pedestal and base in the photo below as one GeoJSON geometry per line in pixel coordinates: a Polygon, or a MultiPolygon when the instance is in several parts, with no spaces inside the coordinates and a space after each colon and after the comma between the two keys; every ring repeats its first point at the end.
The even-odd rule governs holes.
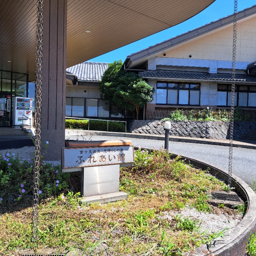
{"type": "Polygon", "coordinates": [[[133,162],[130,140],[67,141],[67,148],[62,148],[62,172],[81,171],[85,204],[126,199],[127,193],[119,191],[119,171],[133,162]]]}

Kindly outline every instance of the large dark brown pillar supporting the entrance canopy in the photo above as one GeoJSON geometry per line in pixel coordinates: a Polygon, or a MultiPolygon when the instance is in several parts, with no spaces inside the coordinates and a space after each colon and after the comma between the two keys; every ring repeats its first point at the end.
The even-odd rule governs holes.
{"type": "Polygon", "coordinates": [[[60,160],[65,146],[67,0],[44,0],[41,148],[60,160]]]}

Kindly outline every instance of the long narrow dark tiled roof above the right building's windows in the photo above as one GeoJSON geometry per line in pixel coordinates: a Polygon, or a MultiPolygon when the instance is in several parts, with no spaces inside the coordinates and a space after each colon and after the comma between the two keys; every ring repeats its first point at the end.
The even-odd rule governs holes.
{"type": "MultiPolygon", "coordinates": [[[[152,77],[152,78],[181,78],[181,79],[197,79],[197,80],[223,80],[232,81],[232,74],[217,73],[209,74],[203,72],[179,72],[179,71],[144,71],[139,72],[141,77],[152,77]]],[[[247,75],[236,75],[236,81],[240,82],[256,82],[255,76],[247,75]]]]}

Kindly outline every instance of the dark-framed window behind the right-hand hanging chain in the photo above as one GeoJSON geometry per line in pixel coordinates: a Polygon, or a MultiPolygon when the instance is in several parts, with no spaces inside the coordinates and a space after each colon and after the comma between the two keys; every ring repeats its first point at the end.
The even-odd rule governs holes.
{"type": "MultiPolygon", "coordinates": [[[[217,105],[231,105],[231,84],[218,84],[217,105]]],[[[235,106],[256,107],[256,86],[235,85],[235,106]]]]}

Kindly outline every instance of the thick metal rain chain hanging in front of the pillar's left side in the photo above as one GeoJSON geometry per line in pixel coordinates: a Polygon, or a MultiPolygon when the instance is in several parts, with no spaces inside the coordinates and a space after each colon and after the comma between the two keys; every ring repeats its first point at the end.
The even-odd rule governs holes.
{"type": "Polygon", "coordinates": [[[35,158],[31,242],[37,240],[37,221],[39,203],[40,144],[41,144],[41,106],[42,106],[42,46],[43,46],[43,0],[36,3],[36,90],[35,90],[35,158]]]}

